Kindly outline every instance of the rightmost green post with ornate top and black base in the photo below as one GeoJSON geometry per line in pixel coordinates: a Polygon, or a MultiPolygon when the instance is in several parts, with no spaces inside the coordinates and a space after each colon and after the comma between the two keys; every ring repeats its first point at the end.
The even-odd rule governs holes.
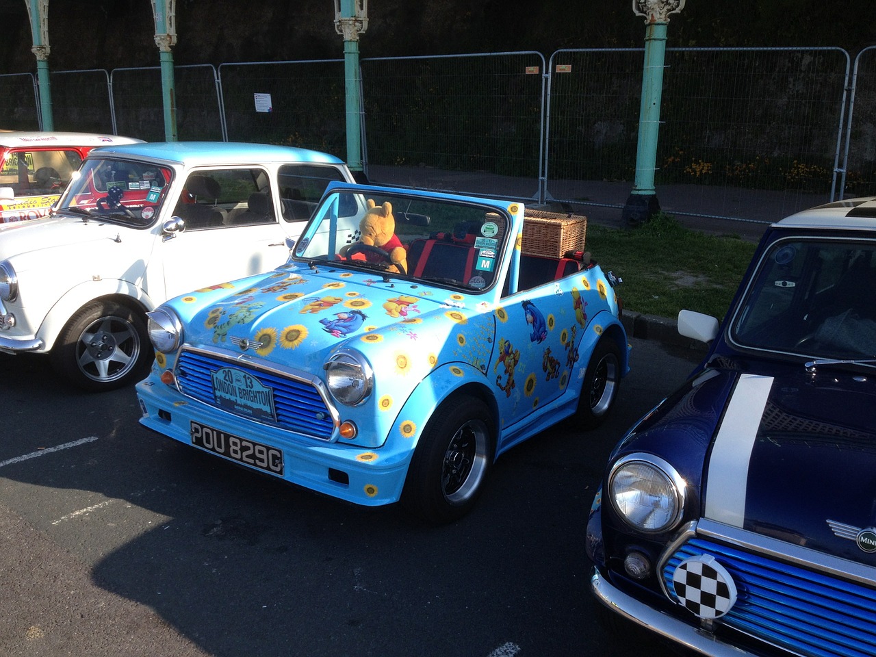
{"type": "Polygon", "coordinates": [[[637,225],[660,212],[654,189],[657,169],[657,135],[663,92],[663,61],[669,14],[682,11],[684,0],[632,0],[632,11],[645,17],[645,65],[642,70],[642,99],[639,108],[639,142],[636,146],[634,186],[621,218],[637,225]]]}

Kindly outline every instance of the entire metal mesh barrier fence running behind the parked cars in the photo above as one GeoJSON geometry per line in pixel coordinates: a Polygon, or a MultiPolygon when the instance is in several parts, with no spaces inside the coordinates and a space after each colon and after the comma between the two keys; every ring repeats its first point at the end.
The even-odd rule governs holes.
{"type": "MultiPolygon", "coordinates": [[[[369,178],[622,208],[643,52],[561,50],[547,67],[530,52],[364,59],[369,178]]],[[[853,74],[839,48],[669,48],[666,66],[655,182],[668,212],[773,221],[876,194],[876,46],[858,53],[853,74]]],[[[176,67],[175,76],[180,139],[344,158],[343,60],[176,67]]],[[[53,73],[53,98],[58,130],[164,138],[159,67],[53,73]]],[[[39,129],[38,102],[33,75],[0,75],[0,127],[39,129]]]]}

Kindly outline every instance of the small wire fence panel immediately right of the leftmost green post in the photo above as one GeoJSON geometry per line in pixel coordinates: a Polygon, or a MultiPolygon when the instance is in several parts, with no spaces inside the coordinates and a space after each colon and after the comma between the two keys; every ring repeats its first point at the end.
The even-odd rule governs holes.
{"type": "Polygon", "coordinates": [[[55,130],[116,133],[106,71],[53,71],[51,81],[55,130]]]}

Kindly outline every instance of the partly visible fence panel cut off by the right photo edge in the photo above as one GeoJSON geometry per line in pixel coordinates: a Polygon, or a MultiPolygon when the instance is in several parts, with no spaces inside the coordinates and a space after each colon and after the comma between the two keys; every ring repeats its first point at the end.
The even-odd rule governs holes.
{"type": "Polygon", "coordinates": [[[876,46],[855,58],[840,198],[876,195],[876,46]]]}

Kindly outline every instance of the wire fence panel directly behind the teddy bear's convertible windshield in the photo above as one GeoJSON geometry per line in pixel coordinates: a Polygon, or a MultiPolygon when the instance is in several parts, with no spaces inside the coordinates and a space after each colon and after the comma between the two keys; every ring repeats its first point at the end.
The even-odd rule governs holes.
{"type": "Polygon", "coordinates": [[[363,60],[369,179],[537,197],[544,66],[540,53],[363,60]]]}

